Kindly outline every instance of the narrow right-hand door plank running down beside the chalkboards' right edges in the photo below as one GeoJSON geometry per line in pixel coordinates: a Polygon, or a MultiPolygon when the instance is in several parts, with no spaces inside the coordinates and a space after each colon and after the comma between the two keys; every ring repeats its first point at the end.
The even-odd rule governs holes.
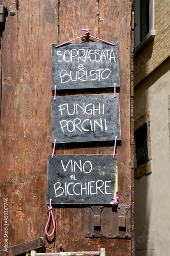
{"type": "MultiPolygon", "coordinates": [[[[102,18],[100,22],[100,37],[107,40],[117,40],[119,44],[121,87],[119,98],[122,143],[121,146],[117,145],[116,148],[118,159],[118,195],[119,202],[130,204],[131,34],[129,31],[131,26],[131,3],[102,1],[100,2],[100,16],[102,18]]],[[[103,150],[105,150],[105,148],[103,148],[103,150]]],[[[101,154],[104,154],[103,150],[101,154]]]]}

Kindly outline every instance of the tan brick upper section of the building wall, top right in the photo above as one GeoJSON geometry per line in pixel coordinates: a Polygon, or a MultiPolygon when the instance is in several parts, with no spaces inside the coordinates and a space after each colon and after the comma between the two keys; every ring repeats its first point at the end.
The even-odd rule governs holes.
{"type": "Polygon", "coordinates": [[[154,0],[155,38],[135,56],[135,86],[170,56],[170,2],[154,0]]]}

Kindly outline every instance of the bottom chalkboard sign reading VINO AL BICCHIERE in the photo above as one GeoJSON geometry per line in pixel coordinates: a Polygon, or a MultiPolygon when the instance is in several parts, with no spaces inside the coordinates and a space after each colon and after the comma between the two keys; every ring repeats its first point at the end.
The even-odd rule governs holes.
{"type": "Polygon", "coordinates": [[[48,156],[47,203],[109,204],[116,166],[117,155],[48,156]]]}

